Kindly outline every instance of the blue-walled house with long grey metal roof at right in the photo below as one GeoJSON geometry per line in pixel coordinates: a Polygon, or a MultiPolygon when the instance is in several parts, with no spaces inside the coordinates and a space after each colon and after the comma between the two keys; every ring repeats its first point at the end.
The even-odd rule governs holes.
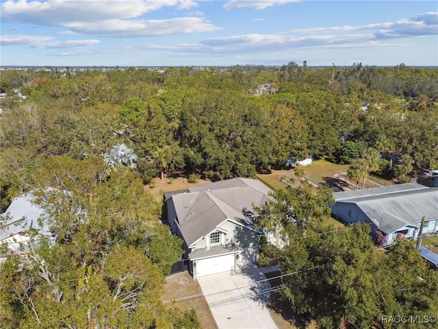
{"type": "Polygon", "coordinates": [[[332,213],[346,223],[367,223],[372,234],[383,232],[391,245],[398,238],[417,239],[438,230],[438,188],[412,183],[334,193],[332,213]]]}

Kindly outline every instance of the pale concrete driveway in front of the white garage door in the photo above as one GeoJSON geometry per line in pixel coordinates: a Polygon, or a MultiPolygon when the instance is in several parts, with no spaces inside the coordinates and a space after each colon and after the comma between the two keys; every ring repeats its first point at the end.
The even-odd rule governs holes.
{"type": "Polygon", "coordinates": [[[199,285],[220,329],[276,329],[268,311],[270,284],[256,266],[201,276],[199,285]]]}

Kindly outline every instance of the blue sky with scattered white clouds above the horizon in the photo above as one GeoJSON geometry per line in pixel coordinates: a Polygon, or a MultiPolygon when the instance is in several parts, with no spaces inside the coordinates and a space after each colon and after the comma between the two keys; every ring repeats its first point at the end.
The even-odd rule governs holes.
{"type": "Polygon", "coordinates": [[[438,65],[437,1],[1,0],[1,66],[438,65]]]}

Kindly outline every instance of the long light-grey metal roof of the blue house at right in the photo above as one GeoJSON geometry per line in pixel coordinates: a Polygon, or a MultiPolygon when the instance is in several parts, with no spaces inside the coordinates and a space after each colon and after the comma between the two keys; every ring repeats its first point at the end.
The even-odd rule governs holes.
{"type": "Polygon", "coordinates": [[[357,204],[386,234],[405,226],[420,227],[423,216],[426,216],[426,221],[438,219],[438,188],[413,183],[334,195],[339,204],[357,204]]]}

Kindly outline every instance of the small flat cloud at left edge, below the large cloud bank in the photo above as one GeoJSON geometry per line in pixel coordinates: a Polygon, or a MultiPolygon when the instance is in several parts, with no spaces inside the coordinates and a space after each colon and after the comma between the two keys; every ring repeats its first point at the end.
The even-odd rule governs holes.
{"type": "Polygon", "coordinates": [[[38,49],[81,48],[96,45],[99,42],[95,39],[56,41],[53,36],[0,36],[2,46],[24,45],[38,49]]]}

